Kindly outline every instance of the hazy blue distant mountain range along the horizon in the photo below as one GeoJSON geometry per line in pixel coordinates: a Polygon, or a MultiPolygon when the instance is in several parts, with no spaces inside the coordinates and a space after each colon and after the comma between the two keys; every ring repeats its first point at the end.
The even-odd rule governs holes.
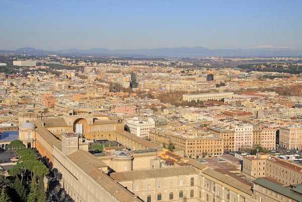
{"type": "Polygon", "coordinates": [[[95,55],[95,56],[129,56],[129,57],[249,57],[249,56],[302,56],[302,50],[288,47],[274,47],[271,45],[259,46],[246,49],[208,49],[204,47],[181,47],[181,48],[156,48],[156,49],[119,49],[109,50],[105,48],[93,48],[89,50],[66,49],[58,51],[44,51],[30,47],[17,49],[16,51],[0,50],[0,53],[24,53],[32,55],[95,55]]]}

